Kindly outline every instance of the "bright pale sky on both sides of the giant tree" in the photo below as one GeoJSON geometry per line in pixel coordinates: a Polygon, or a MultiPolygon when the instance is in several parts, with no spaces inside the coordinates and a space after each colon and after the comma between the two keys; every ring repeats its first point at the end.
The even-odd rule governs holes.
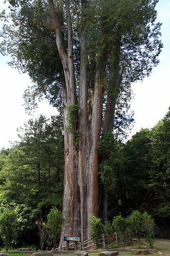
{"type": "MultiPolygon", "coordinates": [[[[0,12],[6,8],[0,0],[0,12]]],[[[164,48],[159,56],[160,63],[143,82],[132,85],[135,94],[131,102],[135,124],[129,134],[141,128],[152,128],[164,117],[170,106],[170,0],[160,0],[156,6],[158,22],[162,22],[162,42],[164,48]]],[[[0,149],[10,147],[10,142],[18,140],[16,129],[27,122],[29,116],[23,106],[23,92],[31,85],[27,74],[8,66],[10,56],[0,55],[0,149]]],[[[57,114],[56,108],[49,106],[47,100],[39,103],[34,118],[44,114],[47,118],[57,114]]]]}

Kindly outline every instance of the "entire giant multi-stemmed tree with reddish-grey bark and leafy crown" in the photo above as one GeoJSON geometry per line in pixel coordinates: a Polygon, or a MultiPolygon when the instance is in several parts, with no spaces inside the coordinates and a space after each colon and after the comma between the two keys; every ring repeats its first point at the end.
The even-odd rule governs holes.
{"type": "Polygon", "coordinates": [[[92,215],[98,215],[98,142],[113,132],[113,124],[123,122],[131,82],[142,80],[158,63],[158,1],[8,2],[11,12],[2,18],[12,22],[4,25],[1,52],[12,54],[11,63],[29,73],[35,82],[33,99],[44,93],[63,111],[61,243],[64,235],[83,241],[92,215]],[[115,120],[119,109],[123,112],[117,111],[115,120]]]}

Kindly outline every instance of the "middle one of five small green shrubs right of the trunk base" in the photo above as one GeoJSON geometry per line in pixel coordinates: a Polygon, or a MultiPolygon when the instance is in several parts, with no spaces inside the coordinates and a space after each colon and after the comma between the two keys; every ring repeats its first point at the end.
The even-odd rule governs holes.
{"type": "Polygon", "coordinates": [[[119,236],[121,236],[123,248],[125,247],[124,243],[125,243],[126,226],[127,226],[126,219],[123,218],[121,215],[115,216],[113,218],[113,229],[119,236]]]}

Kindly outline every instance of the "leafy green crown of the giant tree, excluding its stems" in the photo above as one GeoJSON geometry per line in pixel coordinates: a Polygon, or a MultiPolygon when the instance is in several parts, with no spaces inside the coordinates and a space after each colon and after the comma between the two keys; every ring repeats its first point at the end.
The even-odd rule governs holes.
{"type": "MultiPolygon", "coordinates": [[[[70,2],[76,84],[79,85],[80,34],[84,32],[88,36],[88,90],[94,86],[96,56],[107,49],[104,100],[107,95],[117,95],[114,127],[123,136],[125,128],[133,122],[133,114],[128,112],[132,97],[130,84],[150,74],[152,67],[158,64],[157,57],[162,48],[161,24],[155,22],[156,3],[157,0],[97,0],[87,1],[82,7],[81,1],[70,2]],[[83,26],[81,12],[84,14],[83,26]],[[114,79],[116,90],[112,92],[114,79]]],[[[45,95],[50,104],[61,110],[64,70],[47,1],[8,0],[8,4],[10,13],[1,14],[4,26],[0,35],[4,41],[0,51],[10,54],[10,65],[27,72],[34,82],[25,91],[26,109],[35,108],[36,98],[41,100],[45,95]]],[[[67,51],[66,13],[60,1],[55,7],[67,51]]]]}

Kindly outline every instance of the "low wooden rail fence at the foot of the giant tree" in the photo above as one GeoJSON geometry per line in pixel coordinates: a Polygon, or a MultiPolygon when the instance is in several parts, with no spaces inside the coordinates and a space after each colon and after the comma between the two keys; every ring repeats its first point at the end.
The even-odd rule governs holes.
{"type": "MultiPolygon", "coordinates": [[[[112,238],[114,237],[113,241],[109,241],[108,238],[103,237],[103,239],[101,240],[100,246],[103,247],[104,249],[107,248],[111,248],[111,247],[122,247],[122,240],[120,236],[117,236],[117,233],[112,234],[112,238]]],[[[129,232],[125,232],[125,242],[124,244],[131,244],[131,234],[129,232]]],[[[95,249],[95,244],[94,242],[92,242],[91,238],[89,238],[88,240],[84,241],[84,242],[77,242],[77,247],[78,250],[93,250],[95,249]]],[[[74,248],[74,242],[72,242],[71,244],[69,244],[69,249],[73,250],[74,248]]],[[[62,246],[62,247],[58,247],[55,250],[65,250],[66,249],[66,245],[62,246]]]]}

